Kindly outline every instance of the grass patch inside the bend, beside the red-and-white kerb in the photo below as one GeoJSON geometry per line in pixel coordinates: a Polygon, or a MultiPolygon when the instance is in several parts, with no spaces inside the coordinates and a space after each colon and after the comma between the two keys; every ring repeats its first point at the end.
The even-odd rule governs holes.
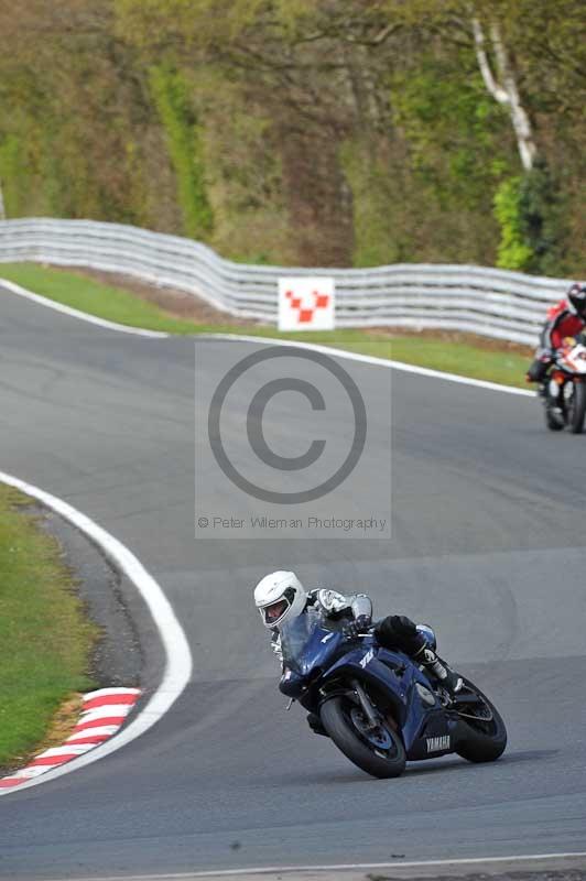
{"type": "Polygon", "coordinates": [[[75,592],[59,544],[37,523],[30,500],[0,485],[0,768],[63,741],[98,630],[75,592]]]}

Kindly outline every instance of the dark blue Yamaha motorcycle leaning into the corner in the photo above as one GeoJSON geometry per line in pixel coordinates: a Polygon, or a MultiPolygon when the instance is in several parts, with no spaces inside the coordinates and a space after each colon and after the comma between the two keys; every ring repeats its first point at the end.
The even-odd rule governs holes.
{"type": "MultiPolygon", "coordinates": [[[[424,635],[435,651],[433,630],[424,635]]],[[[281,692],[372,776],[397,777],[406,761],[448,753],[492,762],[507,746],[504,722],[471,682],[464,679],[451,696],[406,654],[379,645],[371,631],[349,639],[310,612],[285,623],[281,648],[281,692]]]]}

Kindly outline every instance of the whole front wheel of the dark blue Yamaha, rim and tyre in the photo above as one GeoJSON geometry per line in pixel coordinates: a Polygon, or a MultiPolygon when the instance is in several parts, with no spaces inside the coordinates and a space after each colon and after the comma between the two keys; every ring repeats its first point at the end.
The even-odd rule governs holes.
{"type": "Polygon", "coordinates": [[[370,729],[361,707],[350,696],[335,695],[322,704],[322,724],[350,762],[373,777],[398,777],[405,769],[406,755],[399,735],[382,717],[370,729]]]}

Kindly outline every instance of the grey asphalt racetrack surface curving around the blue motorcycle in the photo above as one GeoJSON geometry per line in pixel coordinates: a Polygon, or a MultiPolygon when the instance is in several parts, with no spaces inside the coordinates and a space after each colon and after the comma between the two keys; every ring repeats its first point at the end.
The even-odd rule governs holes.
{"type": "MultiPolygon", "coordinates": [[[[130,547],[194,656],[141,738],[0,800],[0,878],[586,850],[586,438],[547,433],[529,398],[393,372],[390,542],[195,541],[193,339],[117,334],[0,291],[0,467],[130,547]],[[375,781],[284,713],[251,605],[281,567],[432,622],[501,710],[504,757],[375,781]]],[[[250,350],[198,345],[210,369],[227,346],[250,350]]],[[[362,385],[386,369],[344,366],[362,385]]]]}

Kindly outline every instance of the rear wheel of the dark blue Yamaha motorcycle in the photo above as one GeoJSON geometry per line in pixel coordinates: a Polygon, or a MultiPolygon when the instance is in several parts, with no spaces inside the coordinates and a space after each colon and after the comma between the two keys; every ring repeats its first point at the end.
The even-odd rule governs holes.
{"type": "MultiPolygon", "coordinates": [[[[507,728],[502,718],[482,692],[469,679],[464,679],[464,693],[473,693],[479,698],[474,718],[459,718],[456,752],[469,762],[495,762],[507,747],[507,728]]],[[[470,710],[466,710],[470,713],[470,710]]]]}

